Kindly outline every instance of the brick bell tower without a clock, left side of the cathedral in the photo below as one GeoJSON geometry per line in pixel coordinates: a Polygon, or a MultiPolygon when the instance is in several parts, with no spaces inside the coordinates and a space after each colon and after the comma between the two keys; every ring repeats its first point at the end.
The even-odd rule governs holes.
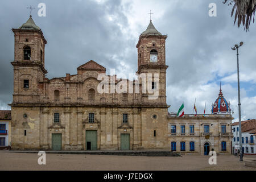
{"type": "Polygon", "coordinates": [[[14,32],[14,93],[13,102],[39,101],[39,82],[47,71],[44,68],[44,47],[47,44],[43,32],[32,16],[14,32]]]}

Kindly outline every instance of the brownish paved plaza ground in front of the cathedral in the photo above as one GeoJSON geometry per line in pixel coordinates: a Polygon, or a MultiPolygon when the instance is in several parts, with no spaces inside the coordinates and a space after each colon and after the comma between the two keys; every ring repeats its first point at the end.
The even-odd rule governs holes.
{"type": "MultiPolygon", "coordinates": [[[[217,165],[209,165],[209,156],[183,155],[166,156],[113,156],[113,155],[76,155],[46,154],[46,165],[38,164],[37,154],[0,152],[0,170],[246,170],[246,167],[233,155],[217,156],[217,165]]],[[[249,158],[244,158],[247,160],[249,158]]],[[[251,158],[250,158],[251,159],[251,158]]]]}

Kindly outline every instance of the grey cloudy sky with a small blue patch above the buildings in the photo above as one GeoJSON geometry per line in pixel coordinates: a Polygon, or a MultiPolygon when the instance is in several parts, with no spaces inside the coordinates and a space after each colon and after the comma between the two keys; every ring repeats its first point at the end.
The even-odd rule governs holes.
{"type": "Polygon", "coordinates": [[[238,119],[236,52],[240,48],[242,119],[256,118],[256,26],[249,32],[233,26],[232,7],[222,0],[73,0],[73,1],[1,1],[0,2],[0,109],[12,102],[14,35],[36,7],[32,18],[42,29],[46,45],[47,77],[76,74],[76,68],[89,60],[103,65],[107,72],[137,71],[139,35],[146,30],[152,11],[152,23],[166,41],[167,104],[177,112],[184,102],[185,114],[207,113],[222,92],[231,102],[238,119]],[[46,17],[39,17],[38,4],[46,4],[46,17]],[[209,3],[216,3],[217,16],[208,15],[209,3]]]}

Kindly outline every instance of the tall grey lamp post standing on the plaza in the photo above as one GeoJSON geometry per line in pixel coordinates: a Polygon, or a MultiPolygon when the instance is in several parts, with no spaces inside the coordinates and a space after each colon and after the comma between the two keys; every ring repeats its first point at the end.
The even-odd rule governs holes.
{"type": "Polygon", "coordinates": [[[241,102],[240,102],[240,78],[239,78],[239,60],[238,60],[238,48],[243,45],[240,42],[239,45],[232,47],[232,50],[237,50],[237,86],[238,86],[238,115],[239,115],[239,146],[240,146],[240,161],[243,161],[243,150],[242,150],[242,124],[241,124],[241,102]]]}

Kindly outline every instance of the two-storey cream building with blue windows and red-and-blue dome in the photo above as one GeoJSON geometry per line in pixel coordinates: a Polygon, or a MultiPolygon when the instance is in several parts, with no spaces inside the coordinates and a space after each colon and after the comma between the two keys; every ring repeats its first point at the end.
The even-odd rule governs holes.
{"type": "Polygon", "coordinates": [[[232,116],[230,104],[222,90],[212,106],[212,114],[185,114],[177,118],[168,115],[168,143],[172,151],[208,155],[214,150],[218,154],[230,154],[232,147],[232,116]]]}

